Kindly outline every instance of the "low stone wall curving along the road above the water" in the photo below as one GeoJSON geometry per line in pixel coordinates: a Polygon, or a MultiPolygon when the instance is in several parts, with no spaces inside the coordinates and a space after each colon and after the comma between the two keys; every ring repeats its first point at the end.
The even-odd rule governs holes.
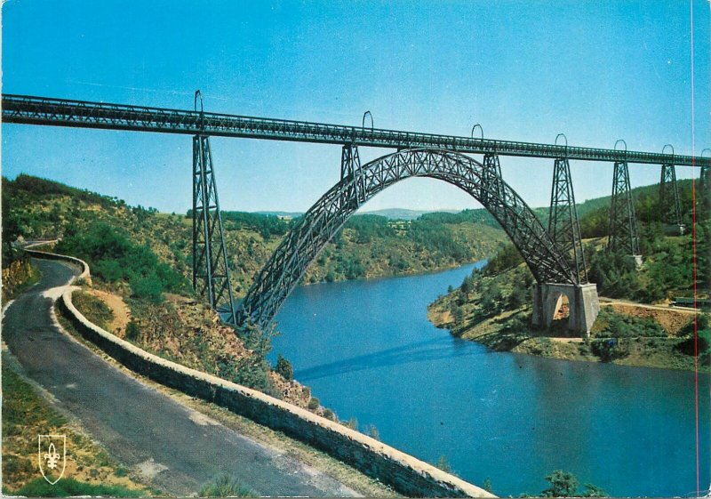
{"type": "MultiPolygon", "coordinates": [[[[89,268],[85,262],[57,254],[47,255],[50,255],[49,258],[80,262],[88,276],[89,268]]],[[[40,257],[45,256],[42,254],[40,257]]],[[[482,488],[475,487],[376,439],[371,439],[363,433],[350,430],[340,423],[332,422],[283,400],[269,397],[260,391],[181,366],[141,350],[84,318],[72,303],[72,293],[75,289],[68,287],[62,294],[59,301],[62,314],[84,338],[136,373],[192,397],[202,398],[225,407],[273,430],[283,431],[293,439],[299,439],[319,448],[363,471],[366,475],[379,479],[380,482],[393,487],[403,495],[495,497],[482,488]]]]}

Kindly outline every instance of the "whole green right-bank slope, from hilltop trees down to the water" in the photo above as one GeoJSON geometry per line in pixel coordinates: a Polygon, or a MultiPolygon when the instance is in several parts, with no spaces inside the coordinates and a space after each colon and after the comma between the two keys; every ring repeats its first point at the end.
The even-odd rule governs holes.
{"type": "MultiPolygon", "coordinates": [[[[683,218],[689,223],[691,217],[691,181],[680,181],[683,218]]],[[[601,286],[603,294],[640,300],[642,302],[667,303],[674,296],[691,296],[692,288],[692,237],[687,233],[683,237],[665,237],[660,232],[657,221],[658,185],[633,189],[635,205],[640,220],[644,263],[641,270],[625,270],[606,264],[610,261],[605,253],[605,238],[587,240],[588,264],[592,261],[597,270],[591,280],[601,286]],[[591,256],[592,255],[592,256],[591,256]],[[602,269],[602,270],[601,270],[602,269]],[[604,281],[604,282],[603,282],[604,281]]],[[[603,197],[579,205],[583,234],[590,237],[606,232],[608,205],[610,198],[603,197]]],[[[707,232],[709,220],[707,209],[698,206],[697,254],[699,254],[699,295],[707,296],[703,289],[707,282],[707,258],[699,252],[707,251],[707,232]],[[706,279],[706,280],[705,280],[706,279]]],[[[498,259],[494,258],[496,261],[498,259]]],[[[519,257],[520,262],[520,257],[519,257]]],[[[499,269],[507,268],[507,264],[499,269]]],[[[498,270],[497,270],[498,271],[498,270]]],[[[693,369],[694,358],[688,353],[692,342],[692,327],[680,327],[688,323],[688,315],[673,309],[651,313],[649,309],[640,309],[622,305],[612,305],[610,310],[603,309],[592,331],[590,342],[575,342],[561,339],[567,332],[560,322],[549,331],[531,328],[531,291],[519,289],[525,299],[513,300],[511,294],[514,283],[523,282],[530,272],[523,265],[513,270],[504,270],[498,275],[478,276],[474,289],[464,293],[462,288],[440,297],[429,307],[429,318],[436,326],[446,327],[452,334],[482,342],[494,350],[512,350],[553,358],[576,360],[601,360],[634,366],[655,366],[677,369],[693,369]],[[496,292],[492,293],[494,289],[496,292]],[[491,296],[496,300],[491,300],[491,296]],[[487,305],[483,305],[488,298],[487,305]],[[674,325],[674,326],[671,326],[674,325]],[[557,337],[557,338],[556,338],[557,337]],[[611,350],[601,346],[600,342],[611,337],[617,338],[616,346],[611,350]],[[598,341],[599,340],[599,341],[598,341]],[[686,347],[686,348],[684,348],[686,347]],[[687,353],[684,353],[686,351],[687,353]]],[[[470,283],[471,285],[472,283],[470,283]]],[[[472,287],[472,286],[469,286],[472,287]]],[[[466,290],[465,290],[466,291],[466,290]]],[[[703,318],[702,318],[703,319],[703,318]]],[[[707,335],[703,327],[700,336],[707,335]]],[[[691,349],[692,350],[692,349],[691,349]]],[[[703,348],[701,350],[704,350],[703,348]]],[[[699,366],[702,371],[709,371],[709,352],[701,354],[699,366]]]]}

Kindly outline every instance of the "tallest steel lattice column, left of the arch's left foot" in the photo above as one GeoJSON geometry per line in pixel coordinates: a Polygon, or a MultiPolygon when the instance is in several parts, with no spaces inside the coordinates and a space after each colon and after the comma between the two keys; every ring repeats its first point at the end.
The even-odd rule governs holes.
{"type": "Polygon", "coordinates": [[[228,322],[236,324],[210,137],[206,135],[193,137],[193,288],[213,309],[228,300],[228,322]]]}

